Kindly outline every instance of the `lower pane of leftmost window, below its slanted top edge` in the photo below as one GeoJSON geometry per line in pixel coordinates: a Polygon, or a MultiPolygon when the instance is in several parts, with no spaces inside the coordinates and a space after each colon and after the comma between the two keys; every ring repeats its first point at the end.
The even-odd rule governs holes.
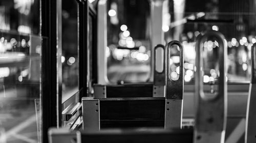
{"type": "Polygon", "coordinates": [[[41,46],[0,31],[0,142],[40,141],[41,46]]]}

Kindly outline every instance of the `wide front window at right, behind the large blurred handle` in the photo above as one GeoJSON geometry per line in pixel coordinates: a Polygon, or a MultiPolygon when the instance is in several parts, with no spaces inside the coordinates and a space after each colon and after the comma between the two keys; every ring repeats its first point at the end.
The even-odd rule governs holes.
{"type": "MultiPolygon", "coordinates": [[[[199,34],[220,31],[228,43],[227,72],[229,82],[250,79],[250,48],[255,40],[254,1],[169,1],[170,17],[166,23],[165,41],[179,40],[184,45],[184,80],[194,81],[195,42],[199,34]]],[[[204,43],[208,50],[215,49],[218,41],[209,39],[204,43]]],[[[214,55],[209,55],[205,81],[217,78],[214,55]],[[206,80],[207,79],[207,80],[206,80]]],[[[206,59],[207,60],[207,59],[206,59]]],[[[206,71],[205,71],[206,72],[206,71]]]]}

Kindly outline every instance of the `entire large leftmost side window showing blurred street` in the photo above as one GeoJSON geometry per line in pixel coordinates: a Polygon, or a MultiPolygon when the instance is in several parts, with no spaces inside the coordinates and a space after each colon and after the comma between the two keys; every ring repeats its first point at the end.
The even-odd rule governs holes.
{"type": "Polygon", "coordinates": [[[39,4],[0,1],[0,142],[41,140],[39,4]]]}

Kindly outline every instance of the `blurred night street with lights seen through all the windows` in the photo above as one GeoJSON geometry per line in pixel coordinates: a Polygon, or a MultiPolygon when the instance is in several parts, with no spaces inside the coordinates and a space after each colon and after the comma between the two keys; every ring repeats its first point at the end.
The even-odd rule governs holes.
{"type": "MultiPolygon", "coordinates": [[[[89,2],[95,7],[98,1],[89,2]]],[[[150,78],[151,47],[155,46],[151,45],[151,2],[107,1],[105,56],[111,83],[146,82],[150,78]]],[[[47,37],[41,36],[40,3],[40,0],[0,1],[0,142],[40,142],[41,76],[44,76],[41,50],[48,43],[47,37]]],[[[63,103],[79,91],[81,67],[77,2],[61,3],[62,68],[58,72],[62,75],[59,92],[63,103]]],[[[164,44],[172,40],[183,43],[186,84],[194,84],[196,39],[209,30],[220,31],[227,40],[228,82],[249,82],[250,48],[256,42],[254,3],[253,0],[164,1],[164,44]]],[[[96,23],[89,25],[93,27],[96,23]]],[[[204,42],[205,83],[218,79],[218,46],[215,39],[204,42]]],[[[169,76],[175,80],[179,77],[179,49],[173,49],[172,53],[169,76]]],[[[93,71],[88,70],[91,77],[93,71]]]]}

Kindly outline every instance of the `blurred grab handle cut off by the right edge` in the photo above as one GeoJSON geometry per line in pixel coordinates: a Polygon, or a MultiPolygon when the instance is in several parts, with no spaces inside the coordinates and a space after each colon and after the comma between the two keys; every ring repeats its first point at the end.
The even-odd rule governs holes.
{"type": "Polygon", "coordinates": [[[246,129],[245,129],[245,143],[256,142],[256,62],[255,60],[256,43],[251,47],[251,83],[249,87],[249,95],[246,110],[246,129]]]}

